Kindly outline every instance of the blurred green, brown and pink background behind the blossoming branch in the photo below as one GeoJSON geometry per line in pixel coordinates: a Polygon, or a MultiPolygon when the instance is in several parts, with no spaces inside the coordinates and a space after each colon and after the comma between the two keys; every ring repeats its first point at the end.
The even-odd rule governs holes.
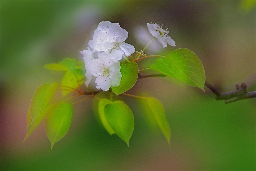
{"type": "MultiPolygon", "coordinates": [[[[224,104],[172,78],[139,80],[128,91],[158,98],[172,130],[171,150],[141,102],[130,106],[130,147],[109,136],[92,99],[74,105],[68,134],[52,151],[44,123],[24,142],[35,89],[60,82],[44,69],[63,58],[83,60],[100,21],[119,23],[137,51],[151,40],[147,23],[164,23],[176,47],[154,40],[146,54],[188,48],[201,59],[206,80],[221,92],[245,82],[255,91],[255,1],[1,1],[1,170],[255,170],[255,99],[224,104]]],[[[139,62],[150,66],[156,58],[139,62]]]]}

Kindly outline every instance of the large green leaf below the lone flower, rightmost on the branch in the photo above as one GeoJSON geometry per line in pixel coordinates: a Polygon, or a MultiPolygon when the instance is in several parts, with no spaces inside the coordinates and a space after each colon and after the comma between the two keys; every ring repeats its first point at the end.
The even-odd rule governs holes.
{"type": "Polygon", "coordinates": [[[158,59],[150,68],[204,91],[204,66],[188,49],[176,49],[168,57],[158,59]]]}

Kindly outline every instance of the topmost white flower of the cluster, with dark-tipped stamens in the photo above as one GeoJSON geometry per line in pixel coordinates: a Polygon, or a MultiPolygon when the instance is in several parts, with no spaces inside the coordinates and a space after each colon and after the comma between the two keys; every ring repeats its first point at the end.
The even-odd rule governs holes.
{"type": "Polygon", "coordinates": [[[111,54],[110,58],[116,63],[122,59],[122,54],[130,56],[134,53],[134,46],[125,43],[128,32],[121,28],[118,23],[101,21],[98,28],[94,31],[89,46],[96,51],[104,51],[111,54]]]}

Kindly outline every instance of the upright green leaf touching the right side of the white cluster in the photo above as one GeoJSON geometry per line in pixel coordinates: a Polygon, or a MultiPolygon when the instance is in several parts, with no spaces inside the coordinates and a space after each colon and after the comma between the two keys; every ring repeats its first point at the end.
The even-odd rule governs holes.
{"type": "Polygon", "coordinates": [[[125,65],[121,64],[120,72],[122,74],[122,78],[120,85],[117,87],[111,87],[116,95],[124,93],[134,86],[138,78],[138,70],[139,68],[136,62],[130,61],[125,65]]]}

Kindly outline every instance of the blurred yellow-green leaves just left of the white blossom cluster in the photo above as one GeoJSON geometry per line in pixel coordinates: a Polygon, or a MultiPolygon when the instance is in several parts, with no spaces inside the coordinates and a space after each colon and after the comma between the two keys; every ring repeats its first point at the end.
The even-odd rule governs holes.
{"type": "MultiPolygon", "coordinates": [[[[62,78],[61,85],[76,89],[79,84],[83,84],[85,74],[84,64],[82,61],[78,61],[76,66],[76,59],[65,58],[58,64],[47,64],[44,67],[54,71],[65,71],[62,78]]],[[[62,90],[63,96],[66,96],[71,91],[62,90]]]]}

